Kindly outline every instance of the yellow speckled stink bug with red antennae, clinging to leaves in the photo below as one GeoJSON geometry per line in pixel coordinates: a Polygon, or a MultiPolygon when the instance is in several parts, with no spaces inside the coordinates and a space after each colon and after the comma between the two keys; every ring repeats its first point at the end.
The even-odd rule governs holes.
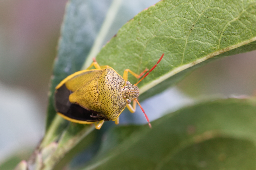
{"type": "Polygon", "coordinates": [[[148,117],[137,100],[139,88],[137,84],[143,80],[162,60],[164,54],[154,67],[145,69],[140,75],[130,69],[124,70],[123,77],[109,66],[99,66],[95,61],[86,69],[73,73],[62,80],[55,88],[55,109],[64,119],[75,123],[95,123],[100,129],[104,121],[119,123],[119,115],[125,107],[135,112],[136,102],[143,111],[148,125],[148,117]],[[90,69],[92,67],[96,69],[90,69]],[[148,72],[147,72],[148,71],[148,72]],[[128,79],[128,72],[140,81],[132,85],[128,79]],[[133,106],[130,104],[132,100],[133,106]],[[98,123],[97,123],[98,122],[98,123]]]}

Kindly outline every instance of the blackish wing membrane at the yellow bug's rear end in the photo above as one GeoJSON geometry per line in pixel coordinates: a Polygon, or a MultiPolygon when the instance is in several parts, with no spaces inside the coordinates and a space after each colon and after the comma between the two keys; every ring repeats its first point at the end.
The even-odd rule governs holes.
{"type": "Polygon", "coordinates": [[[85,122],[98,122],[101,120],[108,121],[97,113],[93,113],[78,104],[71,103],[69,101],[69,95],[71,93],[72,91],[68,90],[65,84],[55,91],[55,110],[57,112],[73,120],[85,122]]]}

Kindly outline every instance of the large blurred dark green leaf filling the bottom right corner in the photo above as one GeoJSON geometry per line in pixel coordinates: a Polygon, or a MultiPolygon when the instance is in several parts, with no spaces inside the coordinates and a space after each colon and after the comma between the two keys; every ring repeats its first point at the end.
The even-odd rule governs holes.
{"type": "Polygon", "coordinates": [[[85,169],[255,169],[256,99],[220,99],[115,127],[85,169]]]}

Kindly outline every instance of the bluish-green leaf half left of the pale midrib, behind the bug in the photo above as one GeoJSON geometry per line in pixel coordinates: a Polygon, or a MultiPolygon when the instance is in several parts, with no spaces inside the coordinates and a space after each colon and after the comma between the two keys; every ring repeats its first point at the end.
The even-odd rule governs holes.
{"type": "Polygon", "coordinates": [[[106,10],[102,10],[102,6],[109,5],[108,1],[102,1],[101,4],[93,3],[92,0],[68,1],[51,78],[46,130],[56,115],[55,87],[68,75],[81,70],[104,20],[106,10]],[[92,8],[93,10],[90,10],[92,8]]]}

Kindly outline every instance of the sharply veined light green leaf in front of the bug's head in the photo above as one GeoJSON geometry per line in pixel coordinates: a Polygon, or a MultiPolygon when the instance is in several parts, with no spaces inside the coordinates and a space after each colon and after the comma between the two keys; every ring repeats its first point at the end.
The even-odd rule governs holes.
{"type": "MultiPolygon", "coordinates": [[[[165,53],[158,67],[138,85],[142,94],[162,82],[142,94],[144,99],[177,83],[209,58],[254,50],[255,9],[254,0],[160,1],[127,22],[96,59],[123,75],[126,68],[135,73],[151,68],[165,53]]],[[[129,81],[137,80],[129,76],[129,81]]]]}

